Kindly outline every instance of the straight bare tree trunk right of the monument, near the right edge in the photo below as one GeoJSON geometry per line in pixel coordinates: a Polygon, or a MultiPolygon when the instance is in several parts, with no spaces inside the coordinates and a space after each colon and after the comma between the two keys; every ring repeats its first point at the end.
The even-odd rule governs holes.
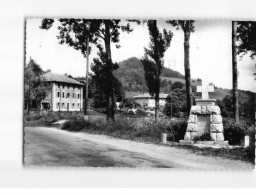
{"type": "Polygon", "coordinates": [[[237,57],[236,57],[236,22],[232,21],[232,71],[233,71],[233,108],[234,119],[239,122],[239,104],[238,104],[238,82],[237,82],[237,57]]]}

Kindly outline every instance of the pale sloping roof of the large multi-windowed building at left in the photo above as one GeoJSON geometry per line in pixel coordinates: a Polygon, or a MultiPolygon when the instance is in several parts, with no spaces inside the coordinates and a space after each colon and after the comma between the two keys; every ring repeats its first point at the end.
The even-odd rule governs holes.
{"type": "Polygon", "coordinates": [[[69,78],[65,75],[60,75],[60,74],[55,74],[55,73],[45,73],[43,75],[43,78],[46,81],[53,81],[53,82],[60,82],[60,83],[71,83],[71,84],[76,84],[76,85],[84,85],[82,83],[80,83],[79,81],[69,78]]]}

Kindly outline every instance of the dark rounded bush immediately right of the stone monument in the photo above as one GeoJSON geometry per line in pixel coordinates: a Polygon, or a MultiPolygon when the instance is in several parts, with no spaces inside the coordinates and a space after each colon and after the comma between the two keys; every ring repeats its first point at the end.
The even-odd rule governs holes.
{"type": "Polygon", "coordinates": [[[246,135],[246,125],[244,123],[235,123],[234,119],[226,118],[223,120],[224,138],[230,145],[240,145],[246,135]]]}

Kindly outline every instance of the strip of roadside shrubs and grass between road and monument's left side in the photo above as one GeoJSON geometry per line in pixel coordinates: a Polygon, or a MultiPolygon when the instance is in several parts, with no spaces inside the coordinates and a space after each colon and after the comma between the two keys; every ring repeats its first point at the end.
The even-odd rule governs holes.
{"type": "Polygon", "coordinates": [[[61,127],[69,131],[85,131],[97,134],[106,134],[123,139],[144,140],[159,143],[161,133],[169,134],[172,141],[184,138],[186,132],[186,121],[171,121],[162,119],[155,122],[153,119],[143,118],[142,120],[130,118],[118,118],[115,122],[106,123],[103,119],[85,121],[83,118],[74,118],[67,121],[61,127]]]}

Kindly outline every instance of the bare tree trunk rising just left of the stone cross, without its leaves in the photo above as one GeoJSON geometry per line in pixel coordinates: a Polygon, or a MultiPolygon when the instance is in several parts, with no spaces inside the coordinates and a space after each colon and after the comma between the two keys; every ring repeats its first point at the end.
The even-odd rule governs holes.
{"type": "MultiPolygon", "coordinates": [[[[189,26],[189,21],[186,21],[187,26],[189,26]]],[[[192,105],[191,98],[191,74],[190,74],[190,64],[189,64],[189,40],[190,40],[190,30],[189,27],[185,27],[184,29],[184,68],[185,68],[185,81],[186,81],[186,97],[187,97],[187,115],[189,116],[189,112],[192,105]]]]}

